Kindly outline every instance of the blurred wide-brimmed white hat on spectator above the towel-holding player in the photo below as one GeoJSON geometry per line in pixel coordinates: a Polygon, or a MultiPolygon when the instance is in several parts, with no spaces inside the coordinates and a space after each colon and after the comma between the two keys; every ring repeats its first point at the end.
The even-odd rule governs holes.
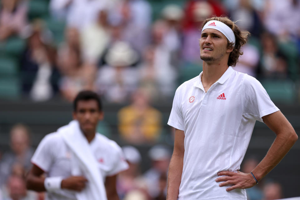
{"type": "Polygon", "coordinates": [[[108,49],[105,61],[113,67],[130,66],[138,61],[138,53],[127,42],[115,42],[108,49]]]}

